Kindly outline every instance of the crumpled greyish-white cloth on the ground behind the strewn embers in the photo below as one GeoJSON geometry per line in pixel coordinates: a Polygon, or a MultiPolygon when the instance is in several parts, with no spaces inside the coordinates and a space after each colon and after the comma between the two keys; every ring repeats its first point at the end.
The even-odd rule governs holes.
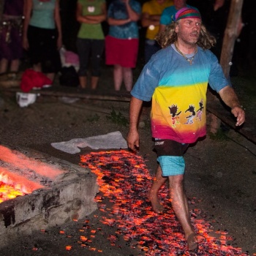
{"type": "Polygon", "coordinates": [[[124,140],[121,132],[110,132],[106,135],[98,135],[88,138],[77,138],[69,141],[59,143],[51,143],[53,148],[59,149],[69,154],[76,154],[80,152],[80,148],[92,149],[114,149],[127,148],[127,141],[124,140]]]}

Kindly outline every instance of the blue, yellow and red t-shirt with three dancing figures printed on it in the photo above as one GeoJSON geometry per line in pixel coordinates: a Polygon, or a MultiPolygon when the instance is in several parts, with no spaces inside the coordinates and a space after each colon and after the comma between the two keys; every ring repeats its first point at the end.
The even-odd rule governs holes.
{"type": "Polygon", "coordinates": [[[217,92],[228,85],[210,50],[198,47],[192,64],[173,45],[154,54],[131,91],[135,98],[152,99],[152,137],[194,143],[205,136],[208,83],[217,92]]]}

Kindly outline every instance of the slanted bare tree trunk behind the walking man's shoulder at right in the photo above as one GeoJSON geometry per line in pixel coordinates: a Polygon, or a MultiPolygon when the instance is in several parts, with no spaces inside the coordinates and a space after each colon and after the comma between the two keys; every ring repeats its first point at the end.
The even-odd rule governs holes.
{"type": "Polygon", "coordinates": [[[242,7],[243,0],[231,0],[230,12],[222,43],[222,53],[219,61],[226,78],[228,78],[230,74],[230,65],[232,65],[234,45],[238,37],[238,24],[241,18],[242,7]]]}

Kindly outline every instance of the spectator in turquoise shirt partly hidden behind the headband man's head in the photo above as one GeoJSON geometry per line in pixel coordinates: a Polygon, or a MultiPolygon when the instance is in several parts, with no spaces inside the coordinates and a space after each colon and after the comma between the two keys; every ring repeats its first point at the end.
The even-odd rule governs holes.
{"type": "Polygon", "coordinates": [[[187,0],[173,0],[173,5],[165,8],[165,10],[162,12],[159,32],[164,31],[165,27],[173,22],[173,18],[176,15],[176,12],[184,7],[191,7],[189,4],[187,4],[187,0]]]}

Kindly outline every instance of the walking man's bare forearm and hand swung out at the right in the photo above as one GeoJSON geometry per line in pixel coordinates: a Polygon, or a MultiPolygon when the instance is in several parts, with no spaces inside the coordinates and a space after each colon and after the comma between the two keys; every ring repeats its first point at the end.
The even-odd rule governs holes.
{"type": "Polygon", "coordinates": [[[236,117],[236,126],[240,126],[245,121],[245,113],[241,108],[236,92],[230,86],[225,86],[219,91],[219,96],[225,104],[231,108],[231,113],[236,117]]]}

